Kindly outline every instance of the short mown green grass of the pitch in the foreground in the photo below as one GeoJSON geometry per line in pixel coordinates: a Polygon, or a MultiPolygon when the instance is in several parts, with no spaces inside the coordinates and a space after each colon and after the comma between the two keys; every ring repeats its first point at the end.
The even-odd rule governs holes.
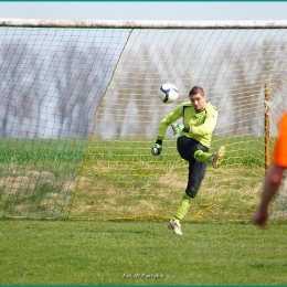
{"type": "Polygon", "coordinates": [[[287,284],[286,224],[182,228],[176,236],[167,222],[1,221],[0,283],[287,284]]]}

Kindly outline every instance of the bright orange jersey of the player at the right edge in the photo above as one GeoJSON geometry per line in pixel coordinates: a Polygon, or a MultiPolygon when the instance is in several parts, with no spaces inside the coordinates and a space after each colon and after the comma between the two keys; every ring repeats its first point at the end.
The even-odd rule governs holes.
{"type": "Polygon", "coordinates": [[[274,149],[274,163],[287,168],[287,111],[279,123],[279,131],[274,149]]]}

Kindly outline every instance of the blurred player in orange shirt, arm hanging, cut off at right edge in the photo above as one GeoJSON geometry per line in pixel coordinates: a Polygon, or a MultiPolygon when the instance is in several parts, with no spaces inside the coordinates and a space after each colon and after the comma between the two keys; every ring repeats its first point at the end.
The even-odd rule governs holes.
{"type": "Polygon", "coordinates": [[[278,137],[274,150],[274,162],[264,182],[259,206],[252,217],[254,224],[262,227],[267,224],[268,206],[279,190],[285,169],[287,169],[287,110],[279,123],[278,137]]]}

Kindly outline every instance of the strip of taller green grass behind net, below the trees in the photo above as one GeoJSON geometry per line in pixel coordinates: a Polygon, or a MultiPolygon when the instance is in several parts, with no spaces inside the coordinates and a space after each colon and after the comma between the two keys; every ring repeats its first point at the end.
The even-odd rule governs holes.
{"type": "MultiPolygon", "coordinates": [[[[170,163],[179,160],[176,139],[167,139],[161,157],[151,157],[155,140],[93,140],[88,160],[110,162],[135,161],[170,163]]],[[[270,140],[273,146],[274,139],[270,140]]],[[[0,163],[76,163],[83,162],[88,149],[88,139],[2,139],[0,141],[0,163]]],[[[264,167],[264,139],[238,136],[214,138],[212,150],[226,147],[224,164],[245,164],[264,167]]]]}

